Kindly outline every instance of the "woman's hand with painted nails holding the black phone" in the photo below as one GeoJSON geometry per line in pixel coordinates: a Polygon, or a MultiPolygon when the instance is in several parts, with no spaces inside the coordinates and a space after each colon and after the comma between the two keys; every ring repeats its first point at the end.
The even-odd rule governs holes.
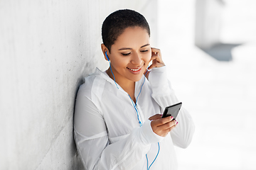
{"type": "Polygon", "coordinates": [[[161,137],[165,137],[178,124],[178,122],[174,120],[174,117],[169,116],[161,118],[160,114],[151,116],[149,120],[151,120],[151,128],[153,132],[161,137]]]}

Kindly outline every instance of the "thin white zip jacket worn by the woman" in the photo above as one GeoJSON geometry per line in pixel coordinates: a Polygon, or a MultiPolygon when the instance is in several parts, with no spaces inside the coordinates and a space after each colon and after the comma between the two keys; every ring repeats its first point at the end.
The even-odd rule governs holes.
{"type": "MultiPolygon", "coordinates": [[[[144,77],[136,82],[135,97],[143,81],[144,77]]],[[[105,72],[96,69],[85,78],[75,102],[74,120],[75,142],[85,169],[147,169],[146,154],[150,165],[158,150],[150,170],[176,169],[174,145],[185,148],[191,142],[191,115],[182,107],[178,125],[166,137],[156,135],[148,120],[179,102],[166,78],[166,67],[151,70],[137,99],[142,127],[132,102],[105,72]]]]}

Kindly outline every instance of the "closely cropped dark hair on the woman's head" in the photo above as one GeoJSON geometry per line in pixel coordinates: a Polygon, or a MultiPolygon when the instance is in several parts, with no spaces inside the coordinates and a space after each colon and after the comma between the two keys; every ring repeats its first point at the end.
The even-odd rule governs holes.
{"type": "Polygon", "coordinates": [[[125,28],[139,26],[144,28],[150,36],[149,23],[146,18],[137,11],[121,9],[111,13],[102,24],[102,41],[108,50],[121,35],[125,28]]]}

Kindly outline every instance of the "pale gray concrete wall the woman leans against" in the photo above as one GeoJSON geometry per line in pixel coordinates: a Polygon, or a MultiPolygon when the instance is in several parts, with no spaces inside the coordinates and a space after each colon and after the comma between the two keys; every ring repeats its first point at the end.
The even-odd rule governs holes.
{"type": "Polygon", "coordinates": [[[157,1],[0,1],[0,169],[82,169],[73,140],[75,95],[95,67],[105,17],[146,16],[156,46],[157,1]]]}

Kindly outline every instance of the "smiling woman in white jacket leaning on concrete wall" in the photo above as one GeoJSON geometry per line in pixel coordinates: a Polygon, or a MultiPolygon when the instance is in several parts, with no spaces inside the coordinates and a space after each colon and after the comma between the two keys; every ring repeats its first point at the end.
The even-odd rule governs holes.
{"type": "Polygon", "coordinates": [[[160,50],[150,46],[146,19],[115,11],[102,24],[102,40],[110,68],[86,77],[75,103],[75,142],[85,169],[176,169],[174,145],[187,147],[194,125],[184,108],[177,120],[161,118],[178,99],[160,50]]]}

